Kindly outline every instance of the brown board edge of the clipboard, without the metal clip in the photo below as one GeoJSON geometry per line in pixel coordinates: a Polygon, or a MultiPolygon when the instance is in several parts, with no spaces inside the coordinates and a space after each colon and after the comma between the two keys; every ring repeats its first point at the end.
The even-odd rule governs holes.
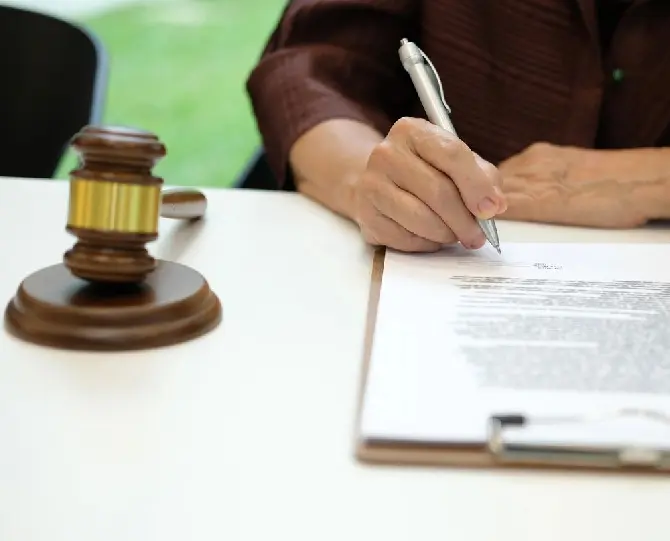
{"type": "MultiPolygon", "coordinates": [[[[496,469],[548,469],[548,470],[584,470],[611,471],[618,473],[670,473],[670,453],[645,449],[627,449],[617,454],[599,455],[598,460],[570,460],[561,457],[552,460],[547,454],[534,456],[533,453],[512,453],[505,456],[494,452],[498,446],[491,442],[481,445],[437,444],[428,442],[370,441],[359,432],[363,398],[367,383],[368,367],[374,341],[377,309],[381,294],[384,273],[385,250],[378,248],[374,252],[367,316],[365,320],[365,339],[363,362],[358,392],[357,414],[355,422],[355,457],[363,464],[395,466],[442,466],[458,468],[496,468],[496,469]]],[[[670,434],[670,418],[664,419],[670,434]]],[[[499,428],[499,427],[498,427],[499,428]]],[[[496,434],[496,437],[499,434],[496,434]]]]}

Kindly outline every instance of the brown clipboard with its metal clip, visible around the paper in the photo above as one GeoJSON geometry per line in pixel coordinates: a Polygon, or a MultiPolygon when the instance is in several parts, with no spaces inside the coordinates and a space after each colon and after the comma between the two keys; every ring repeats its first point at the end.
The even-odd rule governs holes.
{"type": "MultiPolygon", "coordinates": [[[[395,466],[443,466],[458,468],[532,468],[611,471],[620,473],[670,473],[670,444],[667,448],[602,447],[558,444],[519,443],[508,439],[510,430],[523,430],[533,425],[589,423],[602,419],[584,417],[528,417],[515,413],[500,413],[489,419],[487,440],[481,445],[436,442],[405,442],[367,440],[360,427],[368,367],[374,341],[377,308],[384,272],[385,250],[374,252],[363,363],[360,377],[355,423],[355,456],[364,464],[395,466]]],[[[644,418],[659,423],[670,436],[670,416],[647,410],[620,410],[609,417],[644,418]]]]}

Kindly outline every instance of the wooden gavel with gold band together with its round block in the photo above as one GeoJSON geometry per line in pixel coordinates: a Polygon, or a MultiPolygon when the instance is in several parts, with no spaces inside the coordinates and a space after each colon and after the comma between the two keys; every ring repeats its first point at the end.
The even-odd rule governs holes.
{"type": "Polygon", "coordinates": [[[72,140],[66,230],[77,238],[63,263],[28,276],[5,310],[13,335],[45,346],[133,350],[184,342],[214,329],[221,303],[195,270],[157,261],[145,245],[159,217],[198,220],[197,191],[161,192],[152,174],[165,146],[148,132],[88,126],[72,140]]]}

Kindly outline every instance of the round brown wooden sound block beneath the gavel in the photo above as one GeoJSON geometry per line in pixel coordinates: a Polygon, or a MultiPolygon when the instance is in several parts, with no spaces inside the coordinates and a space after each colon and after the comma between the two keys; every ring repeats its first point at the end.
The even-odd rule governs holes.
{"type": "Polygon", "coordinates": [[[5,310],[15,336],[61,349],[124,351],[191,340],[221,321],[197,271],[170,261],[139,284],[90,283],[63,264],[28,276],[5,310]]]}

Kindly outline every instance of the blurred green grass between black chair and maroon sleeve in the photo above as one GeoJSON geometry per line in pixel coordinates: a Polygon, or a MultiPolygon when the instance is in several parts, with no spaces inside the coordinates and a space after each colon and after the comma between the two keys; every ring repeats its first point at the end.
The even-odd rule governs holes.
{"type": "MultiPolygon", "coordinates": [[[[245,81],[284,0],[180,0],[82,22],[110,57],[104,121],[156,133],[166,184],[229,186],[258,144],[245,81]]],[[[66,178],[70,154],[59,168],[66,178]]]]}

